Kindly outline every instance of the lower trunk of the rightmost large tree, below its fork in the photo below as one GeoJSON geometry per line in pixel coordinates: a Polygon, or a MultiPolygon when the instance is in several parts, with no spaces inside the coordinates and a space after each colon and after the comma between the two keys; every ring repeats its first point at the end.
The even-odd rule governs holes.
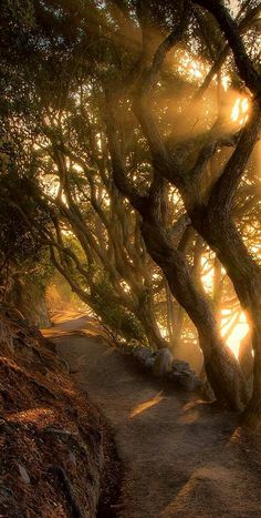
{"type": "Polygon", "coordinates": [[[261,424],[261,268],[226,212],[216,210],[192,214],[192,223],[215,250],[229,277],[252,329],[253,392],[244,410],[244,421],[251,427],[261,424]]]}

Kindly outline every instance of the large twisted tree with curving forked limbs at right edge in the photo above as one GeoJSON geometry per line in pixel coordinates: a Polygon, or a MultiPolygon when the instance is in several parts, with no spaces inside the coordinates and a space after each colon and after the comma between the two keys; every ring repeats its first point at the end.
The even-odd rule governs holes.
{"type": "MultiPolygon", "coordinates": [[[[202,235],[212,250],[218,251],[218,256],[232,280],[242,307],[248,312],[249,321],[253,326],[254,388],[251,402],[246,413],[246,416],[251,420],[252,417],[260,417],[261,404],[261,370],[259,352],[260,268],[251,257],[251,254],[247,251],[247,247],[232,221],[232,203],[240,179],[257,142],[260,129],[260,77],[244,50],[236,22],[232,20],[222,3],[207,1],[195,3],[200,3],[206,7],[217,19],[229,45],[233,51],[240,78],[246,82],[247,87],[255,97],[248,123],[244,125],[242,132],[240,132],[240,135],[228,135],[226,134],[225,129],[220,131],[220,128],[217,126],[216,122],[212,129],[207,133],[205,145],[200,145],[198,148],[197,140],[194,143],[196,144],[196,149],[192,146],[194,153],[197,152],[197,159],[195,160],[192,167],[186,166],[186,163],[180,161],[177,149],[176,153],[173,150],[169,152],[169,149],[166,145],[166,140],[160,134],[155,121],[155,115],[152,112],[152,100],[149,100],[149,95],[156,88],[155,85],[158,80],[158,72],[163,65],[166,53],[173,49],[174,44],[176,44],[180,39],[180,24],[176,30],[170,32],[165,40],[163,40],[154,53],[152,65],[148,68],[145,67],[145,70],[140,74],[142,80],[138,80],[137,93],[136,95],[134,94],[134,109],[143,129],[143,134],[148,142],[156,175],[166,177],[179,190],[195,228],[202,235]],[[221,174],[219,173],[217,179],[211,177],[210,185],[206,185],[206,165],[216,150],[222,145],[234,145],[236,149],[227,164],[223,166],[221,174]],[[253,278],[254,285],[252,282],[253,278]]],[[[186,146],[188,144],[186,143],[186,146]]],[[[115,150],[112,150],[112,155],[113,153],[115,153],[115,150]]],[[[118,186],[121,186],[121,177],[123,174],[125,174],[123,169],[118,174],[115,174],[115,180],[117,181],[118,186]]],[[[158,183],[160,184],[160,181],[158,183]]],[[[126,186],[123,185],[123,189],[125,189],[126,193],[126,186]]],[[[130,195],[132,192],[129,191],[129,197],[130,195]]],[[[137,199],[135,199],[135,196],[133,197],[133,203],[138,209],[137,199]]],[[[144,220],[145,217],[146,216],[144,214],[144,220]]],[[[144,223],[144,232],[148,232],[148,225],[146,223],[144,223]]],[[[147,238],[145,237],[145,240],[149,253],[156,261],[159,261],[158,257],[160,254],[158,248],[155,250],[156,236],[152,233],[152,230],[150,235],[148,235],[147,238]]],[[[163,255],[164,260],[160,257],[160,265],[165,275],[168,276],[169,283],[171,283],[174,275],[173,272],[168,273],[166,248],[163,255]]],[[[178,261],[178,263],[180,265],[180,261],[178,261]]],[[[177,290],[177,282],[182,277],[184,276],[181,276],[180,272],[178,278],[175,278],[174,290],[177,290]]],[[[185,306],[184,301],[181,302],[180,299],[180,303],[185,306]]],[[[189,307],[187,306],[186,309],[189,311],[189,307]]],[[[191,317],[195,313],[194,308],[191,317]]],[[[203,313],[205,315],[207,314],[206,309],[203,309],[203,313]]],[[[203,314],[200,315],[198,325],[200,325],[200,322],[202,323],[202,321],[203,314]]],[[[211,336],[210,333],[203,332],[203,337],[201,339],[203,342],[206,342],[206,339],[209,342],[209,337],[211,337],[210,343],[212,341],[217,342],[216,336],[216,334],[212,334],[211,336]]],[[[209,368],[208,360],[206,364],[207,368],[209,368]]]]}

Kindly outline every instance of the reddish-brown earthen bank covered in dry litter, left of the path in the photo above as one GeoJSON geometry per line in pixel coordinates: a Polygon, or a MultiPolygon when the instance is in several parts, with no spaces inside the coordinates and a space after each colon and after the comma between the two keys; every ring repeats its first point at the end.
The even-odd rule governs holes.
{"type": "Polygon", "coordinates": [[[4,518],[93,518],[118,481],[107,424],[54,344],[2,312],[0,456],[4,518]]]}

